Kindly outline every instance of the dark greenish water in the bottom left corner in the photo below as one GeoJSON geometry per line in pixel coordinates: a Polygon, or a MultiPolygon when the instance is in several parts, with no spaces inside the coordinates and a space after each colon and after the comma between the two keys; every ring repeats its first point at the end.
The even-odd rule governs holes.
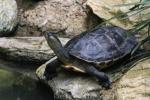
{"type": "Polygon", "coordinates": [[[0,69],[0,100],[53,100],[53,94],[34,79],[0,69]]]}

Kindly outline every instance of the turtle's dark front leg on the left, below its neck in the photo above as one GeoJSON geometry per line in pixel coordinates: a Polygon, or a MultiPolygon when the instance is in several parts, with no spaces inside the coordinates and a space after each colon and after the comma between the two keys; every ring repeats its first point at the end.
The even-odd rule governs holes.
{"type": "Polygon", "coordinates": [[[57,76],[57,68],[60,67],[61,62],[57,57],[51,59],[45,68],[44,76],[47,80],[51,80],[53,77],[57,76]]]}

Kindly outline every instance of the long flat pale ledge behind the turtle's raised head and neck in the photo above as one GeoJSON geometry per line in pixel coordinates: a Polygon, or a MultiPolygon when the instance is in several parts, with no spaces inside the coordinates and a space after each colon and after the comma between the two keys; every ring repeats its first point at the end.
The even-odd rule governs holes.
{"type": "MultiPolygon", "coordinates": [[[[60,38],[62,44],[69,39],[60,38]]],[[[43,63],[54,56],[43,37],[0,38],[0,56],[18,62],[43,63]]]]}

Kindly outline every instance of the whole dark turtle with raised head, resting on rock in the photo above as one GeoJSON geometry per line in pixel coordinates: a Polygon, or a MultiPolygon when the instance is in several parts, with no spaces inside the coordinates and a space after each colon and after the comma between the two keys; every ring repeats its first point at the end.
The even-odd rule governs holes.
{"type": "Polygon", "coordinates": [[[104,88],[110,88],[111,81],[101,69],[111,67],[114,62],[129,55],[137,44],[134,35],[128,36],[126,30],[117,26],[103,26],[83,32],[65,46],[53,32],[46,32],[44,36],[57,56],[47,64],[46,77],[55,73],[54,69],[60,65],[96,77],[104,88]]]}

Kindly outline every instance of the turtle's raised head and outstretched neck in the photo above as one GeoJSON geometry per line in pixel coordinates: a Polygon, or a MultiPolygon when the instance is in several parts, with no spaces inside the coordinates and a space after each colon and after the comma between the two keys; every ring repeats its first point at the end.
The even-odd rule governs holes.
{"type": "Polygon", "coordinates": [[[48,45],[54,51],[58,59],[64,64],[70,62],[70,55],[68,51],[62,46],[60,40],[55,35],[56,33],[48,32],[44,33],[45,39],[48,45]]]}

